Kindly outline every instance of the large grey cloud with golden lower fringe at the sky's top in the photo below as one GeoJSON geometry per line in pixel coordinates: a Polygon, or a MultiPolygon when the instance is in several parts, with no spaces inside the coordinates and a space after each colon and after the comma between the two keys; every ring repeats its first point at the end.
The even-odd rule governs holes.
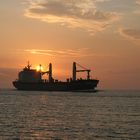
{"type": "Polygon", "coordinates": [[[115,12],[99,11],[96,4],[109,0],[38,0],[30,1],[25,16],[47,23],[59,23],[92,33],[105,30],[119,18],[115,12]]]}

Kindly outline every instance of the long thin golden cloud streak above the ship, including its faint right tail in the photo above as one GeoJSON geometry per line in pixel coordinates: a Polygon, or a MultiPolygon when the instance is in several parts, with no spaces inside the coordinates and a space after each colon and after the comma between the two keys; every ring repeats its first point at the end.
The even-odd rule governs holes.
{"type": "MultiPolygon", "coordinates": [[[[23,50],[21,50],[23,52],[23,50]]],[[[90,48],[79,48],[79,49],[26,49],[24,52],[33,54],[33,55],[44,55],[55,58],[85,58],[85,57],[118,57],[110,53],[93,53],[93,50],[90,48]]]]}

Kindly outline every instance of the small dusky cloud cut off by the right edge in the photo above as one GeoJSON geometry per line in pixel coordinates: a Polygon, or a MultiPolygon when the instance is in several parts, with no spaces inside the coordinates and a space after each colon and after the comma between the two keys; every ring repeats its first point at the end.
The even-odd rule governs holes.
{"type": "Polygon", "coordinates": [[[119,33],[127,39],[140,41],[140,29],[120,29],[119,33]]]}

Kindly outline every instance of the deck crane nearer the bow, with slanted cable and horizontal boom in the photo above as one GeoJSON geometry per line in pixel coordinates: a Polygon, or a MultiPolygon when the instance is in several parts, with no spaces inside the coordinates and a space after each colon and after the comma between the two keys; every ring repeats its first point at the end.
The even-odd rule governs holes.
{"type": "Polygon", "coordinates": [[[87,80],[90,79],[90,72],[91,72],[91,70],[90,70],[90,69],[86,69],[85,67],[79,65],[79,64],[76,63],[76,62],[73,62],[73,78],[72,78],[73,81],[76,81],[76,73],[77,73],[77,72],[87,72],[87,80]],[[77,70],[76,64],[77,64],[79,67],[81,67],[82,69],[81,69],[81,70],[77,70]]]}

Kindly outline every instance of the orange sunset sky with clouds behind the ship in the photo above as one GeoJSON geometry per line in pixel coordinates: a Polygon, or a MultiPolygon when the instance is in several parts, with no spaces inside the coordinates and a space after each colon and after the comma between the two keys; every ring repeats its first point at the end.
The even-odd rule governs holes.
{"type": "Polygon", "coordinates": [[[99,89],[140,89],[140,0],[0,0],[0,88],[27,61],[62,80],[76,61],[99,89]]]}

